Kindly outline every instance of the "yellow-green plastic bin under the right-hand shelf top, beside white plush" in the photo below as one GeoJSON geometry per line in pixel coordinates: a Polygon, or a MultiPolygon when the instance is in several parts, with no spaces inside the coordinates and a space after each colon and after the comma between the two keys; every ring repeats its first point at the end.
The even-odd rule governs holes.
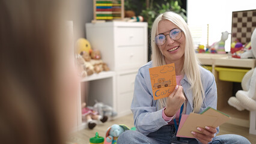
{"type": "Polygon", "coordinates": [[[249,70],[239,68],[224,68],[215,67],[215,70],[219,72],[219,79],[228,82],[242,82],[243,76],[249,70]]]}

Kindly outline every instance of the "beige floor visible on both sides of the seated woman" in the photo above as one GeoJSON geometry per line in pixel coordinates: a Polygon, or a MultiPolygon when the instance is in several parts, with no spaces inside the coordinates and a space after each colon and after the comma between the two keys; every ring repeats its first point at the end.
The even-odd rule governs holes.
{"type": "MultiPolygon", "coordinates": [[[[128,127],[133,127],[133,116],[127,115],[121,118],[117,118],[114,121],[108,121],[104,124],[97,125],[93,130],[85,129],[73,133],[70,137],[69,142],[77,144],[87,144],[89,143],[90,137],[94,137],[95,133],[98,132],[100,136],[105,137],[105,133],[108,127],[112,124],[125,124],[128,127]]],[[[239,134],[246,137],[251,143],[256,143],[256,136],[249,134],[249,128],[239,127],[237,125],[223,124],[220,127],[219,134],[239,134]]]]}

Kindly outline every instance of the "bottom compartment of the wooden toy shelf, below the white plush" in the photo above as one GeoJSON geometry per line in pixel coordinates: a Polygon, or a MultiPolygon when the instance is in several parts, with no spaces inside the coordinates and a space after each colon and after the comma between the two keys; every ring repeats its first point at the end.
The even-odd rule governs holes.
{"type": "Polygon", "coordinates": [[[239,111],[236,108],[228,105],[218,110],[226,113],[231,117],[231,119],[227,123],[239,125],[242,127],[249,127],[249,111],[248,110],[239,111]]]}

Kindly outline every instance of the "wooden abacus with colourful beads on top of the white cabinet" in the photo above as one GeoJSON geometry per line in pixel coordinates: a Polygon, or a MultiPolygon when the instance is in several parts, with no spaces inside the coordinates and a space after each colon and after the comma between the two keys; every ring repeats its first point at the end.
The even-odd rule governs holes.
{"type": "Polygon", "coordinates": [[[92,22],[122,20],[124,19],[124,0],[93,0],[93,12],[92,22]]]}

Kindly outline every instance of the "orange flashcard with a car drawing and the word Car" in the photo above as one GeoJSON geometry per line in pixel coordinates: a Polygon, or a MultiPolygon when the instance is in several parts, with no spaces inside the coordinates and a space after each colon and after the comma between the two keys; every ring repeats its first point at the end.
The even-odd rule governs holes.
{"type": "Polygon", "coordinates": [[[174,63],[150,68],[149,71],[154,100],[168,97],[177,85],[174,63]]]}

